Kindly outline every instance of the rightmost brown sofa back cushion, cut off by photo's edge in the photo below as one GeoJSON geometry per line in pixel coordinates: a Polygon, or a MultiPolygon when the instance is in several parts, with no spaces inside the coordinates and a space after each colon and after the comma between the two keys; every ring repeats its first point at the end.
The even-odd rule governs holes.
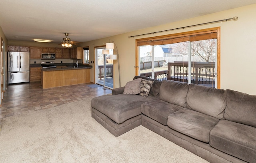
{"type": "Polygon", "coordinates": [[[256,127],[256,95],[227,89],[226,100],[225,119],[256,127]]]}

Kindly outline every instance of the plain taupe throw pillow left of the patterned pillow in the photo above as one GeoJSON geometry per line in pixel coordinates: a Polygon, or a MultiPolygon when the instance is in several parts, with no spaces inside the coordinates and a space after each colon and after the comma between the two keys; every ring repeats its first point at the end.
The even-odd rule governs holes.
{"type": "Polygon", "coordinates": [[[124,94],[139,94],[140,93],[141,78],[128,81],[124,87],[124,94]]]}

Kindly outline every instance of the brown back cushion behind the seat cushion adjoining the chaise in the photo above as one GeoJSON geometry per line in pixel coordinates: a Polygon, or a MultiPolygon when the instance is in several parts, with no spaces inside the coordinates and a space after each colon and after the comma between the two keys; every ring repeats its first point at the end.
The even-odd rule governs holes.
{"type": "Polygon", "coordinates": [[[188,83],[163,80],[160,86],[159,99],[181,107],[186,107],[187,93],[188,83]]]}

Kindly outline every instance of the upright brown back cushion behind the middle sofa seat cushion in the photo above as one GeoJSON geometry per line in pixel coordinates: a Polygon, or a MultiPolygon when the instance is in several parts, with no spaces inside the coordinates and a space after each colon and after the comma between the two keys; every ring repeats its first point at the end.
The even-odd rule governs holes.
{"type": "Polygon", "coordinates": [[[186,102],[189,109],[222,119],[226,108],[226,92],[224,89],[190,84],[186,102]]]}

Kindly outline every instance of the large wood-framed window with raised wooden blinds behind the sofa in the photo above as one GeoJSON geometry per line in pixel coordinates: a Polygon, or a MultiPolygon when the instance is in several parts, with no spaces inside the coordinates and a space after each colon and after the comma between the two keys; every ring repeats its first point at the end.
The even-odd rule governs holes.
{"type": "Polygon", "coordinates": [[[136,75],[219,88],[219,30],[211,28],[136,40],[136,75]]]}

